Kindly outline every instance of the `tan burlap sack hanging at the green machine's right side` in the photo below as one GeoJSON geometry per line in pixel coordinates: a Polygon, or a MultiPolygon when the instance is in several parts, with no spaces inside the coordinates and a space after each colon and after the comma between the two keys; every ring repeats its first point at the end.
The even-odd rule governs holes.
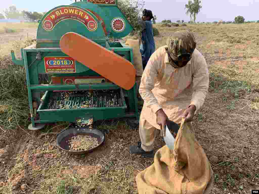
{"type": "Polygon", "coordinates": [[[139,40],[127,39],[125,42],[126,45],[129,45],[133,51],[133,65],[136,69],[136,76],[142,76],[143,74],[143,65],[142,57],[139,48],[139,40]]]}

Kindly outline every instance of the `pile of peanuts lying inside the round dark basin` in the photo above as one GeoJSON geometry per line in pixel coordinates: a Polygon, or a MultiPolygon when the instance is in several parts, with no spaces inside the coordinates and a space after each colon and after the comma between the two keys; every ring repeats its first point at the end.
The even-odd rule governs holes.
{"type": "Polygon", "coordinates": [[[71,138],[69,148],[75,151],[91,150],[99,145],[97,138],[91,136],[77,135],[71,138]]]}

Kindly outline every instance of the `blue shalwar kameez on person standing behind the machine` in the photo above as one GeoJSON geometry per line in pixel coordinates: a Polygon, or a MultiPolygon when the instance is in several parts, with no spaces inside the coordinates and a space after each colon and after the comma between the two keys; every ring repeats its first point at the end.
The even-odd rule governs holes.
{"type": "Polygon", "coordinates": [[[142,64],[144,70],[150,56],[155,52],[153,26],[150,20],[146,20],[143,23],[141,40],[142,44],[140,46],[140,53],[142,55],[142,64]]]}

